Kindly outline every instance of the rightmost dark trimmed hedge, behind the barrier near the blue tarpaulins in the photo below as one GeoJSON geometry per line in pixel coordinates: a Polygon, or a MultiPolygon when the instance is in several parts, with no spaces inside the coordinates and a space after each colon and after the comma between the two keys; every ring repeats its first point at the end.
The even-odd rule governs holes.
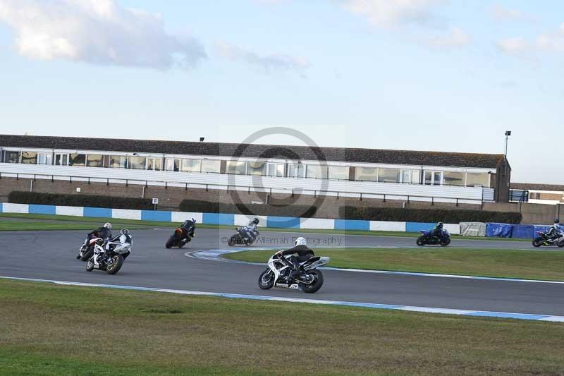
{"type": "Polygon", "coordinates": [[[482,210],[403,209],[400,207],[352,207],[339,208],[342,219],[392,222],[496,222],[521,223],[523,216],[515,212],[485,212],[482,210]]]}

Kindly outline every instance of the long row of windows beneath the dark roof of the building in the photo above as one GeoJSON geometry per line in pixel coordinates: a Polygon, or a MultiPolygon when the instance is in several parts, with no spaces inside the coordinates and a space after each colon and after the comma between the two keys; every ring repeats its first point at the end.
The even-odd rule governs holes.
{"type": "MultiPolygon", "coordinates": [[[[25,164],[55,164],[58,166],[88,166],[121,169],[146,169],[183,172],[221,172],[221,161],[214,159],[139,157],[136,155],[104,155],[51,152],[4,152],[3,162],[25,164]],[[164,162],[164,163],[163,163],[164,162]]],[[[329,178],[349,180],[348,166],[319,166],[272,162],[227,161],[226,174],[274,176],[288,178],[329,178]]],[[[421,171],[384,167],[356,167],[355,181],[380,183],[425,184],[428,186],[490,186],[489,174],[455,171],[421,171]]]]}

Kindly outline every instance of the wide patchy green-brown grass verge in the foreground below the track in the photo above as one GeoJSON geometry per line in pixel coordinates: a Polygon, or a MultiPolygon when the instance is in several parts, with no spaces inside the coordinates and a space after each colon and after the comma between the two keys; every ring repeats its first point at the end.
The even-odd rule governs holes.
{"type": "Polygon", "coordinates": [[[0,375],[561,375],[564,325],[0,281],[0,375]]]}

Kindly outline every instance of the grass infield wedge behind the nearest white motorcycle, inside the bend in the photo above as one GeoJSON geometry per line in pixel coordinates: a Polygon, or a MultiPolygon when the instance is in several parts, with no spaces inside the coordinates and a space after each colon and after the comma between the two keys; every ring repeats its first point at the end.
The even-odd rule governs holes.
{"type": "MultiPolygon", "coordinates": [[[[319,248],[331,257],[329,267],[460,274],[564,281],[564,252],[458,248],[319,248]]],[[[266,262],[271,250],[223,255],[231,260],[266,262]]]]}

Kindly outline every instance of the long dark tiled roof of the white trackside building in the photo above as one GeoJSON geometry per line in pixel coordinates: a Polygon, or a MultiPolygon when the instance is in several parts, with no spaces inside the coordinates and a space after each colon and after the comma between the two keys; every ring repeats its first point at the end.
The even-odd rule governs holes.
{"type": "Polygon", "coordinates": [[[341,147],[232,144],[219,142],[182,142],[123,140],[112,138],[75,138],[32,135],[0,135],[0,146],[41,149],[93,150],[101,152],[140,152],[221,157],[281,158],[415,166],[450,166],[496,169],[503,154],[424,152],[341,147]]]}

